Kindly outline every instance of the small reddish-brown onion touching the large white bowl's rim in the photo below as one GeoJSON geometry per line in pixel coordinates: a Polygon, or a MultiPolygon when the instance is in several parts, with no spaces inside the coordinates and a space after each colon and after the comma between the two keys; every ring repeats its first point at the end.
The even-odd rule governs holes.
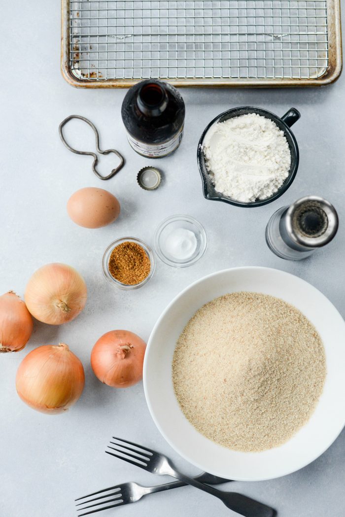
{"type": "Polygon", "coordinates": [[[113,388],[128,388],[143,378],[146,343],[128,330],[111,330],[96,342],[91,366],[96,377],[113,388]]]}

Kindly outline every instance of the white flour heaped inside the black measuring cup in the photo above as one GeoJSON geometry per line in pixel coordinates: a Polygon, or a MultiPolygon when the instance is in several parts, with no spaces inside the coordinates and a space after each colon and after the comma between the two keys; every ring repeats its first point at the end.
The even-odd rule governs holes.
{"type": "Polygon", "coordinates": [[[215,189],[249,203],[272,196],[289,175],[289,144],[269,118],[249,113],[217,122],[203,152],[215,189]]]}

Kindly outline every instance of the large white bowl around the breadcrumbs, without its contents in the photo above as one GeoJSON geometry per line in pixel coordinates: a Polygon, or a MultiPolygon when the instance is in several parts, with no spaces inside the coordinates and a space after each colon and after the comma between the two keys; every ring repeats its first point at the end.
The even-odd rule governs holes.
{"type": "Polygon", "coordinates": [[[344,336],[345,323],[338,311],[320,291],[301,278],[264,267],[239,267],[213,273],[176,296],[152,331],[144,361],[148,408],[169,444],[206,472],[244,481],[290,474],[318,458],[345,424],[344,336]],[[286,444],[264,452],[236,452],[205,438],[185,418],[173,390],[173,352],[189,318],[209,300],[235,291],[256,291],[292,303],[317,328],[326,352],[326,382],[309,422],[286,444]]]}

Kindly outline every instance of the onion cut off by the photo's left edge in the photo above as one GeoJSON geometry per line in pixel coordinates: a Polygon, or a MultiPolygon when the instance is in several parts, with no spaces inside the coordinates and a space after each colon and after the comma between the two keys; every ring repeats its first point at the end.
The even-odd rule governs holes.
{"type": "Polygon", "coordinates": [[[9,291],[0,296],[0,352],[19,352],[33,331],[33,318],[23,300],[9,291]]]}

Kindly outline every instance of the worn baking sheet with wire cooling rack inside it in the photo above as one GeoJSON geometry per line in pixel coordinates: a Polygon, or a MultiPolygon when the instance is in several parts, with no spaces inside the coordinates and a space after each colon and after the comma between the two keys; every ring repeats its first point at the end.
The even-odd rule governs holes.
{"type": "Polygon", "coordinates": [[[76,86],[325,84],[341,71],[337,0],[63,0],[76,86]]]}

